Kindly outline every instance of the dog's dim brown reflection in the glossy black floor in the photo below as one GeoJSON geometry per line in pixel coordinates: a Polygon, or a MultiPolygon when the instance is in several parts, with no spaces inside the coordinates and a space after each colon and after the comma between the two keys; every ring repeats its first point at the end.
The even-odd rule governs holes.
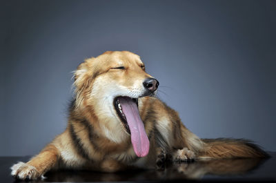
{"type": "Polygon", "coordinates": [[[159,171],[128,171],[98,173],[90,171],[59,171],[46,174],[49,182],[119,182],[156,180],[201,180],[204,175],[244,175],[262,164],[262,159],[208,160],[169,164],[159,171]]]}

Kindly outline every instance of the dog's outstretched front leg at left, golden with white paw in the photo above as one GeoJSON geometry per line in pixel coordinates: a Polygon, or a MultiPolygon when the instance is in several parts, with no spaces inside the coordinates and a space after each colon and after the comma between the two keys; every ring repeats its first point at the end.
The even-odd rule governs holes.
{"type": "Polygon", "coordinates": [[[12,176],[20,180],[36,180],[38,177],[43,177],[46,171],[55,166],[59,158],[58,149],[49,144],[36,156],[27,162],[18,162],[14,164],[12,169],[12,176]]]}

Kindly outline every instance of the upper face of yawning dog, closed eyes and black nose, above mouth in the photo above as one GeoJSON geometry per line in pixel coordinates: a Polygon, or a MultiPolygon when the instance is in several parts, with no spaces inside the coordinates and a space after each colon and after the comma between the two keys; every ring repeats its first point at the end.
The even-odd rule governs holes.
{"type": "Polygon", "coordinates": [[[107,52],[97,59],[96,69],[100,70],[92,86],[92,95],[105,93],[106,97],[112,95],[137,99],[155,93],[158,81],[145,72],[138,55],[126,51],[107,52]]]}

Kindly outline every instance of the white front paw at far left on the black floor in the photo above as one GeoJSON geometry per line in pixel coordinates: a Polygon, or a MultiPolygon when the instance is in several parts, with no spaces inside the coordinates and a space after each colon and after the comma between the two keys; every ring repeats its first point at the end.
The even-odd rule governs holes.
{"type": "Polygon", "coordinates": [[[40,177],[40,173],[37,171],[37,168],[23,162],[14,164],[10,167],[10,169],[12,169],[11,175],[20,180],[36,180],[40,177]]]}

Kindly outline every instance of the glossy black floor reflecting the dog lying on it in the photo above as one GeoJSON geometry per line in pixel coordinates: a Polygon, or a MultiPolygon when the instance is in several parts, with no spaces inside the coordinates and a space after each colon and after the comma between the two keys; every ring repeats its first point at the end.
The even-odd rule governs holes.
{"type": "MultiPolygon", "coordinates": [[[[170,165],[164,171],[55,171],[32,182],[275,182],[276,153],[266,160],[211,160],[170,165]]],[[[10,175],[10,166],[30,157],[0,157],[0,182],[22,182],[10,175]]]]}

